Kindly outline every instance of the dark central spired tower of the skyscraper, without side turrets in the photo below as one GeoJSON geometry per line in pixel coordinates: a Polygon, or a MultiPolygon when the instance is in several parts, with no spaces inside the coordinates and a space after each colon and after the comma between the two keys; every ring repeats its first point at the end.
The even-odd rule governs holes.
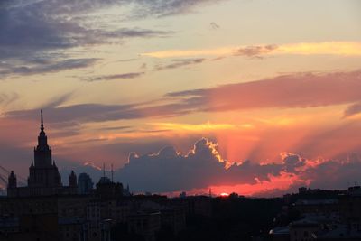
{"type": "Polygon", "coordinates": [[[29,187],[61,187],[61,177],[58,167],[52,161],[51,147],[44,131],[44,122],[41,110],[41,126],[38,136],[38,145],[34,147],[34,162],[29,168],[29,187]]]}

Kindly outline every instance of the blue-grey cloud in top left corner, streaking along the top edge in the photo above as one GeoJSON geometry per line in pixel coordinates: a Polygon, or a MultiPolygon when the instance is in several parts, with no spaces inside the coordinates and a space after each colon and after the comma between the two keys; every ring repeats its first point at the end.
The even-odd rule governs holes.
{"type": "MultiPolygon", "coordinates": [[[[44,51],[86,44],[116,41],[116,39],[133,37],[158,37],[170,32],[154,31],[141,28],[97,28],[95,24],[83,23],[75,14],[97,12],[113,6],[133,4],[128,17],[143,18],[180,14],[190,11],[192,7],[217,2],[216,0],[171,0],[171,1],[6,1],[0,7],[0,56],[14,57],[17,51],[44,51]],[[16,48],[15,48],[16,47],[16,48]],[[12,49],[9,49],[12,48],[12,49]]],[[[97,16],[93,22],[97,22],[97,16]]]]}

